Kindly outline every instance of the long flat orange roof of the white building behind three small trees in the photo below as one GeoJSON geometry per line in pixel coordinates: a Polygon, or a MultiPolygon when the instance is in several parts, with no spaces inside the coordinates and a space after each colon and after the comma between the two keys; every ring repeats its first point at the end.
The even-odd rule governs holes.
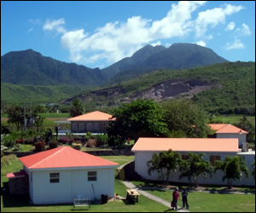
{"type": "Polygon", "coordinates": [[[238,152],[237,138],[139,138],[133,152],[168,151],[176,152],[238,152]]]}

